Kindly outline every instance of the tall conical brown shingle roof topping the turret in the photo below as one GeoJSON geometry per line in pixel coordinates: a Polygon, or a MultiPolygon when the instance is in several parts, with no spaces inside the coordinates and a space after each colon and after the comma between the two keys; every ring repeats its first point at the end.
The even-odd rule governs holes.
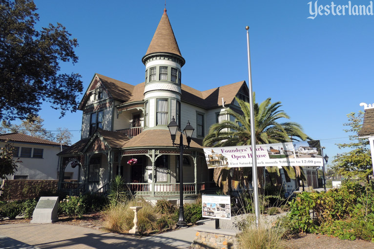
{"type": "Polygon", "coordinates": [[[166,14],[166,8],[164,9],[164,14],[161,17],[145,56],[163,52],[176,54],[182,57],[169,18],[166,14]]]}

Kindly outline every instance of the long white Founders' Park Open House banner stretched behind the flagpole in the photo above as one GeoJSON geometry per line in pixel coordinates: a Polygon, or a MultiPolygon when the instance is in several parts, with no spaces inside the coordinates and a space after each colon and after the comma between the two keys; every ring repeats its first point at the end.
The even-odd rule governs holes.
{"type": "MultiPolygon", "coordinates": [[[[204,148],[208,168],[251,167],[251,145],[204,148]]],[[[323,166],[319,140],[256,145],[257,166],[323,166]]]]}

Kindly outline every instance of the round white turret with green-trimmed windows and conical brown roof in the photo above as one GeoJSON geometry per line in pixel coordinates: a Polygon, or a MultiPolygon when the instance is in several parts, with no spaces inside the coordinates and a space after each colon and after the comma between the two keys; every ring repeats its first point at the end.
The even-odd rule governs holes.
{"type": "Polygon", "coordinates": [[[164,14],[142,59],[145,64],[145,129],[167,129],[171,118],[180,126],[181,119],[181,68],[185,59],[164,14]]]}

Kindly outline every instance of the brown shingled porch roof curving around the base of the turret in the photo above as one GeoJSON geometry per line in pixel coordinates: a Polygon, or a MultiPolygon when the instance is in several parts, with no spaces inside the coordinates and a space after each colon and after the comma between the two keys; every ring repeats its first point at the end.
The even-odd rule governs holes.
{"type": "MultiPolygon", "coordinates": [[[[175,143],[179,144],[180,132],[177,133],[175,143]]],[[[186,136],[184,136],[184,144],[187,145],[186,136]]],[[[169,130],[145,130],[136,137],[131,138],[122,148],[132,148],[132,147],[172,147],[173,143],[170,138],[169,130]]],[[[191,148],[203,148],[201,139],[192,139],[191,148]]]]}

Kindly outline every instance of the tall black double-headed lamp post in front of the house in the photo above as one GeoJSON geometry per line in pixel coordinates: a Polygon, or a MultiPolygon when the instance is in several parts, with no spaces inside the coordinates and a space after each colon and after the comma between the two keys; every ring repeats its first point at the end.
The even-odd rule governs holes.
{"type": "Polygon", "coordinates": [[[171,140],[173,141],[173,145],[179,147],[179,220],[177,222],[178,227],[186,227],[187,222],[185,221],[185,210],[183,208],[183,150],[185,148],[189,148],[189,144],[191,143],[192,133],[195,130],[190,124],[189,121],[187,122],[186,128],[183,130],[187,137],[187,145],[183,145],[183,136],[182,132],[179,137],[179,144],[175,144],[175,138],[178,131],[178,124],[175,122],[174,116],[171,119],[170,124],[167,125],[170,131],[171,140]]]}

